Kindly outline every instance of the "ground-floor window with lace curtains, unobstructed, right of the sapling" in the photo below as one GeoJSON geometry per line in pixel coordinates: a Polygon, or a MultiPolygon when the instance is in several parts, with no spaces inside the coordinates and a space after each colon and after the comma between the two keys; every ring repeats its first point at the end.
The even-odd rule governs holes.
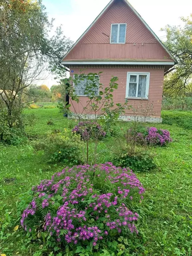
{"type": "Polygon", "coordinates": [[[126,98],[148,99],[150,73],[128,72],[126,98]]]}

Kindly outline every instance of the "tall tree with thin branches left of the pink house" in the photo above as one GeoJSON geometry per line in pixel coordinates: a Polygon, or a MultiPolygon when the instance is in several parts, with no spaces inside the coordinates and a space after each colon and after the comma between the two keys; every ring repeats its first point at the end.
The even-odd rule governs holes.
{"type": "Polygon", "coordinates": [[[49,37],[52,27],[40,0],[0,1],[0,99],[10,127],[19,118],[26,88],[60,65],[72,45],[61,28],[49,37]]]}

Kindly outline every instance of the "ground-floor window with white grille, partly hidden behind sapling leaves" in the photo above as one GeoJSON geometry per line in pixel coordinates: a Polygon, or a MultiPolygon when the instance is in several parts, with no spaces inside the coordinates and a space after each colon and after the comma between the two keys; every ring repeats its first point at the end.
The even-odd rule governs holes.
{"type": "Polygon", "coordinates": [[[91,79],[91,76],[79,75],[78,77],[78,83],[74,84],[75,94],[77,96],[98,96],[99,76],[94,76],[94,80],[91,79]],[[89,88],[90,84],[93,85],[92,89],[89,88]]]}

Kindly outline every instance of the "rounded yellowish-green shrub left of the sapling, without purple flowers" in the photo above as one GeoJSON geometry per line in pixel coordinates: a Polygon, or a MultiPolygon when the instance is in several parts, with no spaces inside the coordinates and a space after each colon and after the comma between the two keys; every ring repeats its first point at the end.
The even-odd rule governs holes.
{"type": "Polygon", "coordinates": [[[81,163],[82,143],[80,136],[68,129],[62,132],[54,130],[47,138],[36,141],[34,148],[44,150],[50,162],[63,162],[71,166],[81,163]]]}

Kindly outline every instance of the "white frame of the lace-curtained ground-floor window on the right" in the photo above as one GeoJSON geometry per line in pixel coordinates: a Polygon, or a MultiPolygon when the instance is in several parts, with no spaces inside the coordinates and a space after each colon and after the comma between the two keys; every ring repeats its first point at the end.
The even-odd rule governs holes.
{"type": "Polygon", "coordinates": [[[146,99],[148,100],[149,95],[149,81],[150,81],[150,72],[127,72],[127,85],[126,85],[126,99],[146,99]],[[147,75],[147,82],[146,82],[146,90],[145,90],[145,97],[129,97],[129,81],[130,76],[135,75],[137,76],[137,89],[136,89],[136,95],[138,95],[138,87],[139,87],[139,75],[147,75]]]}

